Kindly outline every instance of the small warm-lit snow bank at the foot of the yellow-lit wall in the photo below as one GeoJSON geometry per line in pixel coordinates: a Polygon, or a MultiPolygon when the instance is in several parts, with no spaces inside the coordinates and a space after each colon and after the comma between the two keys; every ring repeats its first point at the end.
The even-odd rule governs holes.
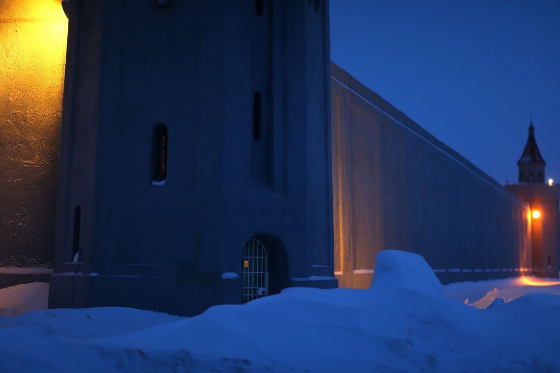
{"type": "Polygon", "coordinates": [[[0,289],[0,316],[14,317],[26,312],[44,310],[49,299],[49,284],[31,282],[0,289]]]}

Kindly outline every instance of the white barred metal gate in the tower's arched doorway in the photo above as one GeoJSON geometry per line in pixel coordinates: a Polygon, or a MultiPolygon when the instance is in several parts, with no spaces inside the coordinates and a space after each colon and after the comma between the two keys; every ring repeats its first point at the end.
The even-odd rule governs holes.
{"type": "Polygon", "coordinates": [[[241,303],[268,295],[267,248],[256,238],[245,243],[241,256],[241,303]]]}

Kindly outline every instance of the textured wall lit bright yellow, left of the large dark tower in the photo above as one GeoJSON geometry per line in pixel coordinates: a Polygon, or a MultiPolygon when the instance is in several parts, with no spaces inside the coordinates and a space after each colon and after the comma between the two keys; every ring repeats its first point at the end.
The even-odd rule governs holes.
{"type": "Polygon", "coordinates": [[[60,1],[0,0],[0,287],[52,268],[66,33],[60,1]]]}

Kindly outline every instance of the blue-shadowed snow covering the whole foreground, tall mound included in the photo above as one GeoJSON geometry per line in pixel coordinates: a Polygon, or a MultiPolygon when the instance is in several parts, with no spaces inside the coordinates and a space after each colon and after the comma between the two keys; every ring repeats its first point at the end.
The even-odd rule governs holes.
{"type": "Polygon", "coordinates": [[[560,372],[560,285],[520,281],[542,280],[442,287],[422,257],[384,251],[368,290],[291,288],[193,318],[34,311],[0,318],[0,371],[560,372]]]}

